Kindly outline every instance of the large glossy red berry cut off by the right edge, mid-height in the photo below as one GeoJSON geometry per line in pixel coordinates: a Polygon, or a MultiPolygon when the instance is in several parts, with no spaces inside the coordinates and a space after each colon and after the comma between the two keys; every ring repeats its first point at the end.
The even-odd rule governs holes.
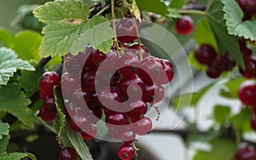
{"type": "Polygon", "coordinates": [[[256,106],[256,83],[245,82],[241,83],[238,90],[239,99],[245,106],[256,106]]]}

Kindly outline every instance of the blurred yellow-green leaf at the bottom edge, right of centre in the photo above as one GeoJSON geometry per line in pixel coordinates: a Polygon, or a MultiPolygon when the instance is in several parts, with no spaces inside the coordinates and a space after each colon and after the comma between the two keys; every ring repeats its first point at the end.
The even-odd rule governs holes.
{"type": "Polygon", "coordinates": [[[216,139],[211,142],[211,151],[197,151],[193,160],[230,160],[236,151],[236,143],[232,140],[216,139]]]}

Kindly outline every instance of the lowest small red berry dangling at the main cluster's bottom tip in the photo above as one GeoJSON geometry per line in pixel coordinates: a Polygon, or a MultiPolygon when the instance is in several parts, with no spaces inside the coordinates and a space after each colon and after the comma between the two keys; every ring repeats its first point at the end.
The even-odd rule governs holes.
{"type": "Polygon", "coordinates": [[[119,158],[122,160],[128,160],[135,156],[133,147],[129,144],[123,144],[118,150],[119,158]]]}

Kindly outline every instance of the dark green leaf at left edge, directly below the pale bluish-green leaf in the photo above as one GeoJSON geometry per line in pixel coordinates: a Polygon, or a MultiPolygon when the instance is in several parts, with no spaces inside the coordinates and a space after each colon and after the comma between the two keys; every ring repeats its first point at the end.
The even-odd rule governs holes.
{"type": "Polygon", "coordinates": [[[32,109],[27,107],[31,103],[26,99],[26,95],[20,92],[20,88],[15,83],[0,86],[0,111],[6,111],[17,117],[29,128],[34,125],[32,109]]]}

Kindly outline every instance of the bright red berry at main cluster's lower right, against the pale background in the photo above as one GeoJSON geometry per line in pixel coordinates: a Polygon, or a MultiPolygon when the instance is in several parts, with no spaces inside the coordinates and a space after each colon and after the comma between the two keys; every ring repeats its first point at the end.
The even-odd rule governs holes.
{"type": "Polygon", "coordinates": [[[151,131],[152,129],[152,122],[150,118],[148,117],[143,117],[136,123],[131,124],[131,129],[133,132],[139,135],[145,135],[148,134],[148,132],[151,131]]]}

